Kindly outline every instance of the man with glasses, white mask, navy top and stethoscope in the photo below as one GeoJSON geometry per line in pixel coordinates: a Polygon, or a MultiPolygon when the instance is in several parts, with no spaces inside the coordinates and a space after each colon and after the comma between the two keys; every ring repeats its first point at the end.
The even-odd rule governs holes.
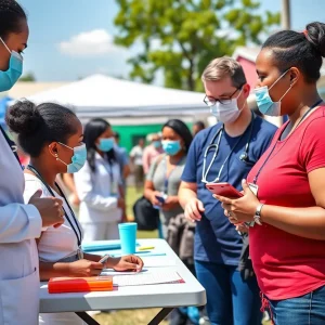
{"type": "Polygon", "coordinates": [[[233,58],[213,60],[202,79],[205,102],[219,122],[192,142],[180,203],[185,216],[197,221],[195,268],[207,291],[211,324],[258,325],[262,314],[256,277],[237,270],[243,238],[206,183],[227,182],[240,191],[242,180],[268,148],[276,128],[249,109],[250,87],[233,58]]]}

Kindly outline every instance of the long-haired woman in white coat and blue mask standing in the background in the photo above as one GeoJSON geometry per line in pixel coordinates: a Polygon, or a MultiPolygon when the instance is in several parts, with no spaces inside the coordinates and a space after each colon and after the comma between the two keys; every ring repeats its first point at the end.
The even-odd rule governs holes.
{"type": "Polygon", "coordinates": [[[81,200],[79,221],[84,240],[118,239],[126,205],[114,132],[106,120],[95,118],[86,125],[83,133],[87,161],[75,173],[75,183],[81,200]]]}

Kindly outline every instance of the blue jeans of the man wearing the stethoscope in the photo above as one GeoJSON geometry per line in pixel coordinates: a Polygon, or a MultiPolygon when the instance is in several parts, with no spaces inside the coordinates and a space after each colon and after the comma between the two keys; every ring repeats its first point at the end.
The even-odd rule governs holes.
{"type": "Polygon", "coordinates": [[[260,325],[261,299],[256,277],[247,281],[236,266],[195,261],[196,275],[207,291],[212,325],[260,325]]]}

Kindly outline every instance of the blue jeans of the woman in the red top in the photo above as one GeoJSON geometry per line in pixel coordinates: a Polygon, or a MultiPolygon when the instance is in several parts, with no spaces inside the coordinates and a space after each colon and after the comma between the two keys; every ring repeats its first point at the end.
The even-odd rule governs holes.
{"type": "Polygon", "coordinates": [[[275,325],[325,324],[325,286],[298,298],[269,302],[275,325]]]}

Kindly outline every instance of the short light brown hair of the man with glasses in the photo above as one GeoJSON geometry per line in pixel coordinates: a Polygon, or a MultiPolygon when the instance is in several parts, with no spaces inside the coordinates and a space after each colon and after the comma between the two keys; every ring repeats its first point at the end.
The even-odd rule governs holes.
{"type": "Polygon", "coordinates": [[[205,68],[202,80],[219,81],[227,76],[231,77],[232,83],[236,88],[240,88],[247,83],[240,63],[229,56],[212,60],[205,68]]]}

